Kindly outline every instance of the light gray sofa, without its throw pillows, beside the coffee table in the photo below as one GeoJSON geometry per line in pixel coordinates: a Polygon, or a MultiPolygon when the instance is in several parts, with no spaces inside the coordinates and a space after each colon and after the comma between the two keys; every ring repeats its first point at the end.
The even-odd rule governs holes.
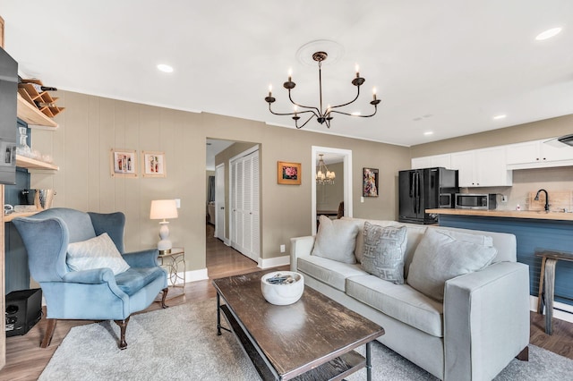
{"type": "MultiPolygon", "coordinates": [[[[355,257],[362,258],[366,220],[343,217],[356,224],[355,257]]],[[[439,226],[369,221],[407,228],[404,284],[394,284],[363,270],[312,255],[315,236],[291,239],[292,271],[305,284],[371,319],[386,332],[379,341],[401,356],[445,380],[489,380],[519,355],[526,360],[529,343],[528,267],[516,261],[512,234],[478,232],[439,226]],[[443,302],[417,291],[407,282],[415,249],[428,229],[492,237],[497,255],[480,271],[445,283],[443,302]]],[[[319,231],[321,233],[321,231],[319,231]]]]}

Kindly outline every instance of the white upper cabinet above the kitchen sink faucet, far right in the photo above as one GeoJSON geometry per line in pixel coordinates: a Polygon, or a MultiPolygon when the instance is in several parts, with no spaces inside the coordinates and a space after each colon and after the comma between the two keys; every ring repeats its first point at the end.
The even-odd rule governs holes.
{"type": "Polygon", "coordinates": [[[509,169],[543,168],[573,165],[573,148],[552,146],[547,139],[510,144],[507,149],[509,169]]]}

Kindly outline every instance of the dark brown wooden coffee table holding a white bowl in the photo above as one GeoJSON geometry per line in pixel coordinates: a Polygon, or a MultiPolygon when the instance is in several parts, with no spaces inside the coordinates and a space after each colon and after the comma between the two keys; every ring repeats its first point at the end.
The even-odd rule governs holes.
{"type": "Polygon", "coordinates": [[[268,272],[213,281],[217,334],[229,331],[222,313],[263,380],[341,380],[365,367],[370,381],[371,342],[384,329],[308,286],[294,304],[270,304],[261,293],[268,272]],[[364,344],[365,358],[354,351],[364,344]]]}

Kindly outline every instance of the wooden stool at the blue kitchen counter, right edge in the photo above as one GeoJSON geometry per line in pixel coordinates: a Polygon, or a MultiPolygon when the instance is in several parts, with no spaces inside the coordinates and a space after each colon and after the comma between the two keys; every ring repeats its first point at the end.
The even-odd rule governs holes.
{"type": "Polygon", "coordinates": [[[545,334],[553,333],[553,298],[555,293],[555,266],[558,260],[573,262],[573,253],[560,251],[536,252],[535,257],[541,257],[541,274],[539,275],[539,294],[537,299],[537,313],[543,314],[543,300],[545,301],[545,334]],[[543,284],[545,292],[543,292],[543,284]]]}

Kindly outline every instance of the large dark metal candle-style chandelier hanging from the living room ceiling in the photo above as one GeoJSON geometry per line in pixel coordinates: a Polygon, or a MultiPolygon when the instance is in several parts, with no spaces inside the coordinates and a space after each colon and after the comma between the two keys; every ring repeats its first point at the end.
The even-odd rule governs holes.
{"type": "MultiPolygon", "coordinates": [[[[319,90],[320,90],[320,99],[319,99],[319,106],[318,107],[313,107],[313,106],[303,106],[301,104],[296,103],[293,100],[293,97],[291,96],[290,90],[295,89],[295,82],[293,82],[292,80],[292,76],[289,73],[288,75],[288,80],[283,83],[283,87],[285,89],[288,90],[288,99],[290,100],[290,102],[294,105],[294,109],[295,111],[292,113],[275,113],[274,111],[272,111],[271,105],[275,102],[275,98],[272,96],[272,86],[269,86],[269,97],[265,97],[265,101],[269,104],[269,111],[271,114],[275,114],[275,115],[293,115],[293,120],[295,121],[295,127],[297,129],[303,128],[306,123],[309,123],[310,120],[312,118],[316,118],[316,121],[318,123],[325,123],[327,128],[330,128],[330,121],[333,119],[332,114],[343,114],[343,115],[348,115],[348,116],[357,116],[357,117],[361,117],[361,118],[369,118],[371,116],[374,116],[376,114],[376,111],[378,111],[378,104],[380,103],[380,99],[376,99],[376,89],[372,89],[372,101],[370,101],[370,104],[372,106],[374,106],[374,112],[372,114],[369,115],[361,115],[361,114],[349,114],[349,113],[345,113],[343,111],[339,111],[337,110],[337,108],[339,107],[344,107],[344,106],[348,106],[352,103],[355,102],[356,99],[358,99],[358,97],[360,96],[360,86],[363,85],[364,83],[364,79],[360,76],[360,73],[358,72],[358,65],[356,65],[356,78],[354,80],[352,80],[352,84],[355,85],[356,87],[356,97],[354,99],[352,99],[350,102],[346,102],[342,105],[338,105],[338,106],[327,106],[326,109],[324,109],[322,107],[322,71],[321,71],[321,67],[322,67],[322,61],[326,60],[327,57],[329,55],[326,52],[316,52],[312,55],[312,59],[316,62],[319,63],[319,90]],[[298,107],[301,107],[303,109],[303,111],[299,111],[298,107]],[[308,119],[301,125],[298,124],[299,119],[301,119],[301,117],[299,116],[300,114],[310,114],[308,119]]],[[[304,115],[306,116],[306,115],[304,115]]]]}

